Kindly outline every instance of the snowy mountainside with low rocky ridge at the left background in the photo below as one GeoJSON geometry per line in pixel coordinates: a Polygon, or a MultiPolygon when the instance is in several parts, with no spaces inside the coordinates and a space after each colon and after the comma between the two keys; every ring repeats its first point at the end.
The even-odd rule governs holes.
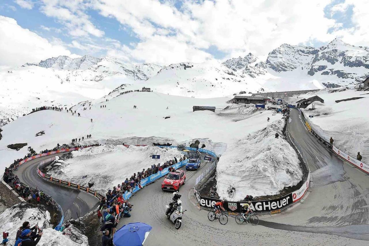
{"type": "Polygon", "coordinates": [[[60,56],[0,70],[0,127],[35,107],[69,108],[82,100],[100,98],[121,84],[144,81],[160,68],[154,64],[124,64],[113,57],[60,56]]]}

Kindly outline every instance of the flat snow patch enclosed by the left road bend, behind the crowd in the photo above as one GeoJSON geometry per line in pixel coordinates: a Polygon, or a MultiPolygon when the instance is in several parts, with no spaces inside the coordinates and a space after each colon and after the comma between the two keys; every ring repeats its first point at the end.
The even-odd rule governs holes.
{"type": "Polygon", "coordinates": [[[155,146],[106,145],[72,151],[73,158],[58,160],[48,172],[52,177],[88,186],[94,183],[95,191],[106,191],[121,184],[134,173],[147,169],[153,164],[165,163],[179,159],[183,154],[176,148],[159,148],[155,146]],[[159,160],[152,155],[160,155],[159,160]],[[87,175],[87,178],[82,178],[87,175]]]}

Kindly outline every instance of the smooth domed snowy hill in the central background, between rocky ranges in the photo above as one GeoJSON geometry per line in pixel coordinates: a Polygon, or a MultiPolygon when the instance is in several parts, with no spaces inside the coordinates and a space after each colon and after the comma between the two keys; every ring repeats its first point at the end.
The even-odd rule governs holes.
{"type": "Polygon", "coordinates": [[[249,76],[235,74],[218,62],[171,64],[143,85],[156,92],[196,98],[229,96],[241,90],[252,92],[262,87],[249,76]]]}

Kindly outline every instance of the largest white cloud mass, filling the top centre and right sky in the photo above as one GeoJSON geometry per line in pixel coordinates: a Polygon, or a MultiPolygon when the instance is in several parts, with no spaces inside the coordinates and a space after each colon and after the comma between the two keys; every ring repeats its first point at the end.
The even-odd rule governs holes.
{"type": "Polygon", "coordinates": [[[93,7],[141,39],[129,51],[132,57],[161,63],[210,59],[203,49],[211,46],[226,54],[262,55],[283,43],[330,41],[334,35],[327,30],[335,21],[323,11],[330,1],[185,0],[179,11],[172,1],[96,0],[93,7]],[[165,45],[169,49],[162,48],[165,45]]]}

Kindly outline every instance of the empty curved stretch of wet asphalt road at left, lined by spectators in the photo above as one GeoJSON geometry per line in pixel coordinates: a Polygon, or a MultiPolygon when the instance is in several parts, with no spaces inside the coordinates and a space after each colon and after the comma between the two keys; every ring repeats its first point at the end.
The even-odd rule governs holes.
{"type": "Polygon", "coordinates": [[[46,194],[52,196],[52,198],[58,202],[59,205],[61,205],[65,220],[77,218],[77,213],[78,216],[83,216],[92,208],[96,208],[100,202],[92,195],[89,195],[86,192],[53,184],[38,176],[38,163],[50,157],[51,156],[44,156],[27,161],[26,163],[20,165],[18,171],[14,173],[15,175],[18,175],[21,182],[31,187],[37,186],[39,190],[43,190],[46,194]]]}

